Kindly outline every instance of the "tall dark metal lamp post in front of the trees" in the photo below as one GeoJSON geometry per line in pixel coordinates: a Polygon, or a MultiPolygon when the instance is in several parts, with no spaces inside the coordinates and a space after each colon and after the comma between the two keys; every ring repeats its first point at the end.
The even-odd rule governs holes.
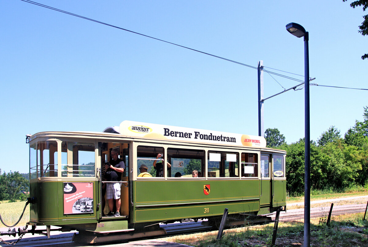
{"type": "Polygon", "coordinates": [[[310,246],[310,126],[309,126],[309,51],[308,32],[294,22],[286,25],[286,30],[298,38],[304,37],[304,117],[305,117],[305,149],[304,149],[304,247],[310,246]]]}

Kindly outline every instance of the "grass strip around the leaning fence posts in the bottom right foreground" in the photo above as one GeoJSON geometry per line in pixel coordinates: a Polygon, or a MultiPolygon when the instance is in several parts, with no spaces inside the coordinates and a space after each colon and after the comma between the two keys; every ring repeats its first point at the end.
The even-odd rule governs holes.
{"type": "MultiPolygon", "coordinates": [[[[311,246],[368,246],[368,222],[362,218],[363,214],[333,216],[330,227],[320,223],[319,218],[311,219],[311,246]]],[[[303,229],[303,222],[280,222],[275,246],[302,246],[303,229]]],[[[272,232],[273,223],[269,223],[224,230],[220,240],[216,240],[217,231],[166,237],[163,240],[198,247],[266,247],[272,242],[272,232]]]]}

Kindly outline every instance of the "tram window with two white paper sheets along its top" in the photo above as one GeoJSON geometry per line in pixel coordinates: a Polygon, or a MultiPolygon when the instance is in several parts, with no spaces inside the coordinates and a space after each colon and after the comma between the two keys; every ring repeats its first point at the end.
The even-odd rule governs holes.
{"type": "Polygon", "coordinates": [[[230,152],[208,152],[208,177],[238,177],[239,154],[230,152]]]}

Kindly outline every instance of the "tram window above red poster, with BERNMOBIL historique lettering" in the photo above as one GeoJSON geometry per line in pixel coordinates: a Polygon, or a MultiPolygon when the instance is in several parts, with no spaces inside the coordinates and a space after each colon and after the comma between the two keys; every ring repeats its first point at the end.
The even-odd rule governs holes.
{"type": "Polygon", "coordinates": [[[61,176],[94,177],[95,145],[92,143],[63,142],[62,152],[67,153],[67,164],[63,161],[61,176]]]}

